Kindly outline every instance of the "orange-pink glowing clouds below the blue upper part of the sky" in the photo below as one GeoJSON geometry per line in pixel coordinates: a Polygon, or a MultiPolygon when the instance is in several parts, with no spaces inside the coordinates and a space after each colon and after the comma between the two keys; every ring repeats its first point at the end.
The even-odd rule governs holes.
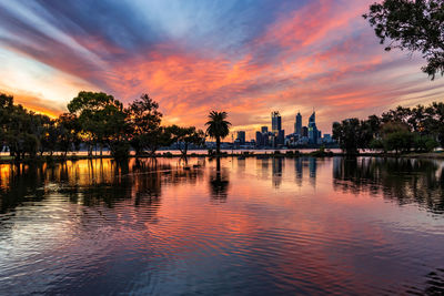
{"type": "MultiPolygon", "coordinates": [[[[330,132],[333,121],[402,102],[428,103],[444,90],[420,73],[420,59],[406,62],[402,54],[383,52],[361,17],[371,2],[317,0],[280,12],[235,53],[174,39],[130,52],[95,33],[72,38],[97,60],[87,61],[56,42],[49,43],[51,55],[23,45],[14,50],[89,83],[72,82],[75,89],[90,85],[127,103],[148,92],[160,102],[164,124],[203,127],[210,110],[226,110],[233,129],[253,136],[258,126],[270,124],[273,110],[281,111],[291,132],[296,111],[305,121],[315,108],[321,130],[330,132]]],[[[58,105],[21,94],[17,100],[58,114],[73,95],[58,105]]]]}

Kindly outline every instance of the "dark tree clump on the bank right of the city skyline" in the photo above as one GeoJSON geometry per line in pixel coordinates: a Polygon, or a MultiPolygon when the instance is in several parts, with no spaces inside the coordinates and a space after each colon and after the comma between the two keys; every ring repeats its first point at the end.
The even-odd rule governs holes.
{"type": "Polygon", "coordinates": [[[367,120],[347,119],[333,124],[333,139],[347,154],[360,149],[406,153],[444,147],[444,103],[398,106],[367,120]]]}

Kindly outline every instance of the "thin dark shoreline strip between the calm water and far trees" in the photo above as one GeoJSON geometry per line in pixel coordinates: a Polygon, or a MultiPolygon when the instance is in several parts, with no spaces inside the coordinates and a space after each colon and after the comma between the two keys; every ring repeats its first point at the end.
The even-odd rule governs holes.
{"type": "MultiPolygon", "coordinates": [[[[157,153],[155,155],[130,155],[130,159],[181,159],[183,155],[181,154],[167,154],[165,153],[157,153]]],[[[218,155],[209,155],[209,154],[198,154],[198,153],[190,153],[186,157],[208,157],[214,159],[218,155]]],[[[285,159],[297,159],[297,157],[315,157],[315,159],[324,159],[324,157],[394,157],[394,159],[424,159],[424,160],[444,160],[444,152],[441,153],[408,153],[408,154],[392,154],[392,153],[380,153],[380,152],[369,152],[369,153],[359,153],[354,155],[347,155],[345,153],[333,153],[333,152],[286,152],[286,153],[254,153],[250,151],[244,151],[240,153],[225,153],[219,155],[219,157],[285,157],[285,159]]],[[[64,161],[81,161],[81,160],[107,160],[113,159],[111,155],[43,155],[43,156],[36,156],[36,157],[26,157],[20,161],[16,161],[13,157],[9,155],[0,155],[0,164],[13,164],[13,163],[51,163],[51,162],[64,162],[64,161]]]]}

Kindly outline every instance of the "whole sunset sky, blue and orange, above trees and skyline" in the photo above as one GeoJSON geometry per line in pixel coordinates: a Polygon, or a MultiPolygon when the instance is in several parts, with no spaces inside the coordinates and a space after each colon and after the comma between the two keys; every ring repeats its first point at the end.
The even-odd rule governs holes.
{"type": "Polygon", "coordinates": [[[0,92],[57,115],[81,90],[148,92],[164,123],[228,111],[249,137],[283,115],[333,121],[442,101],[424,61],[384,52],[362,18],[374,0],[0,0],[0,92]]]}

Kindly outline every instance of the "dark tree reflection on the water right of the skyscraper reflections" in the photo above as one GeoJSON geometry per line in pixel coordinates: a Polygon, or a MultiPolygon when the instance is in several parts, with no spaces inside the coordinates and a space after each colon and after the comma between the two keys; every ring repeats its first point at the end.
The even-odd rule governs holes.
{"type": "Polygon", "coordinates": [[[335,159],[335,190],[383,194],[400,204],[417,203],[444,213],[444,166],[442,162],[412,159],[335,159]],[[441,164],[441,166],[440,166],[441,164]]]}

